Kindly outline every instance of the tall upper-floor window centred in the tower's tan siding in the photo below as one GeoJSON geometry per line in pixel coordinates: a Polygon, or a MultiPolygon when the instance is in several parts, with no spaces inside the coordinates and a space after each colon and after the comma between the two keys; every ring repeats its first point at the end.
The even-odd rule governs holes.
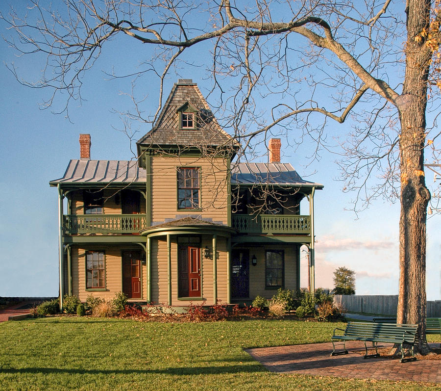
{"type": "Polygon", "coordinates": [[[199,168],[178,168],[178,209],[199,208],[199,168]]]}

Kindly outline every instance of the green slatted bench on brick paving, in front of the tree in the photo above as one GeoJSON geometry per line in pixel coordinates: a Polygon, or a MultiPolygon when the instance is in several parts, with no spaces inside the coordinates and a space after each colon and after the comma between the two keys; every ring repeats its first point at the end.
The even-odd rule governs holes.
{"type": "Polygon", "coordinates": [[[372,357],[380,357],[377,350],[378,342],[394,343],[400,346],[401,359],[400,363],[407,361],[416,361],[417,358],[414,354],[414,345],[417,335],[416,324],[394,324],[394,323],[368,323],[368,322],[348,322],[346,329],[334,329],[332,336],[333,350],[331,356],[340,354],[348,354],[346,350],[346,341],[364,341],[366,354],[365,359],[372,357]],[[342,335],[336,334],[336,331],[343,331],[342,335]],[[336,344],[343,342],[343,350],[336,351],[336,344]],[[368,354],[368,346],[366,342],[372,342],[375,347],[375,354],[368,354]],[[407,346],[412,354],[409,358],[404,358],[404,345],[407,346]]]}

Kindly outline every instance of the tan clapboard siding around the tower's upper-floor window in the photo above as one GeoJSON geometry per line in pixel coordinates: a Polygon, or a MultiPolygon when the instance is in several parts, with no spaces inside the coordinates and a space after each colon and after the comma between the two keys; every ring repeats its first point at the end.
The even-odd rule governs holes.
{"type": "Polygon", "coordinates": [[[201,215],[227,224],[227,166],[224,158],[153,156],[152,222],[179,218],[189,214],[201,215]],[[177,168],[200,167],[200,209],[177,209],[177,168]]]}

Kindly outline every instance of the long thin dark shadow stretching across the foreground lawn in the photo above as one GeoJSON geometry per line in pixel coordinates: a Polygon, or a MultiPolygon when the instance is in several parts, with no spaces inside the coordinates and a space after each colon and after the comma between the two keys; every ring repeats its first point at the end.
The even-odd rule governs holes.
{"type": "Polygon", "coordinates": [[[77,369],[77,368],[1,368],[0,374],[80,374],[80,375],[131,375],[142,373],[169,374],[169,375],[214,375],[214,374],[237,374],[239,372],[254,373],[267,372],[262,365],[231,365],[231,366],[194,366],[194,367],[168,367],[163,369],[77,369]]]}

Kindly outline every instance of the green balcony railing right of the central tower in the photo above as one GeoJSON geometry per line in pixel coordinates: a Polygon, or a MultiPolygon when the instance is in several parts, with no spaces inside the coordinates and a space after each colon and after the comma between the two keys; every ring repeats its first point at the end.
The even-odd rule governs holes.
{"type": "Polygon", "coordinates": [[[311,217],[298,214],[233,214],[231,226],[243,234],[311,234],[311,217]]]}

